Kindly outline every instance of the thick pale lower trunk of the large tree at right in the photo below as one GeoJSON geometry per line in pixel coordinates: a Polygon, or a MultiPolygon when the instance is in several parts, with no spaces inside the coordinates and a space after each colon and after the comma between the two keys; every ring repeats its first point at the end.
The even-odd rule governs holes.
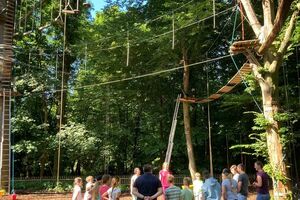
{"type": "Polygon", "coordinates": [[[278,71],[268,75],[264,81],[260,81],[263,101],[263,113],[265,119],[269,122],[266,129],[267,132],[267,147],[269,161],[272,166],[272,171],[276,173],[273,176],[274,198],[286,199],[288,192],[291,191],[290,181],[287,183],[278,180],[278,177],[288,177],[285,159],[283,156],[283,146],[280,141],[280,123],[274,118],[279,112],[278,103],[278,71]]]}

